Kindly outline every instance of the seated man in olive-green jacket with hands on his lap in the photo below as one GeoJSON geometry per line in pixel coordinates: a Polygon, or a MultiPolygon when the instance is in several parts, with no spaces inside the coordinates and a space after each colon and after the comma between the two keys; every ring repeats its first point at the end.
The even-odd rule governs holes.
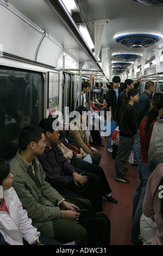
{"type": "MultiPolygon", "coordinates": [[[[55,237],[63,243],[76,241],[86,245],[87,231],[78,224],[80,205],[65,200],[45,181],[37,155],[45,150],[45,135],[40,127],[24,127],[18,138],[20,149],[11,161],[11,173],[14,175],[12,186],[20,198],[23,208],[32,218],[32,224],[42,235],[55,237]]],[[[91,203],[83,200],[88,208],[91,203]]]]}

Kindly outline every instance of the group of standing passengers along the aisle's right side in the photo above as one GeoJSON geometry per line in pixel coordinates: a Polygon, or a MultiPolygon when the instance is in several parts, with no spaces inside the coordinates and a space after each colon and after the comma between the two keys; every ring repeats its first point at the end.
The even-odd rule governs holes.
{"type": "MultiPolygon", "coordinates": [[[[115,158],[115,181],[122,182],[123,184],[128,184],[130,182],[125,177],[125,173],[128,169],[124,166],[128,161],[131,147],[133,147],[134,151],[133,166],[137,167],[137,188],[133,196],[133,226],[131,228],[130,239],[135,243],[143,243],[144,245],[162,245],[163,234],[162,231],[161,235],[159,233],[161,229],[160,223],[162,224],[162,216],[161,214],[158,216],[158,212],[154,212],[155,204],[153,203],[153,199],[155,198],[157,199],[156,202],[158,202],[159,183],[157,184],[158,186],[153,185],[153,187],[151,184],[148,184],[149,191],[147,194],[146,187],[148,178],[152,173],[153,175],[150,176],[150,179],[158,179],[158,182],[162,182],[162,173],[160,175],[161,178],[158,178],[156,175],[154,176],[156,171],[153,171],[159,163],[162,163],[163,150],[161,140],[163,138],[163,92],[154,93],[155,84],[152,81],[148,81],[145,84],[144,92],[139,95],[140,81],[142,78],[143,76],[140,76],[136,81],[127,79],[122,84],[120,83],[121,80],[119,76],[113,77],[112,83],[109,83],[108,81],[107,84],[108,92],[105,95],[105,102],[107,110],[111,112],[111,120],[115,120],[118,126],[119,143],[118,147],[115,149],[116,152],[114,152],[113,157],[115,158]],[[156,134],[156,138],[153,138],[157,140],[156,144],[155,141],[151,140],[154,125],[155,129],[157,128],[157,125],[160,129],[156,134]],[[149,168],[149,163],[151,161],[151,159],[148,159],[150,141],[152,141],[151,145],[156,152],[156,164],[153,168],[149,168]],[[151,187],[155,193],[157,192],[157,197],[154,193],[151,194],[151,187]],[[143,206],[144,198],[145,206],[143,206]],[[151,205],[150,209],[148,208],[149,203],[151,205]],[[156,223],[155,220],[157,220],[158,223],[156,223]],[[157,225],[158,229],[156,228],[157,225]]],[[[94,111],[98,110],[97,108],[99,108],[99,112],[103,111],[101,108],[104,106],[102,87],[102,83],[96,83],[93,88],[93,94],[97,94],[97,98],[99,99],[96,108],[93,108],[91,103],[91,107],[94,111]]],[[[84,86],[82,87],[82,97],[84,97],[85,93],[89,92],[89,88],[89,83],[85,83],[85,88],[84,86]]],[[[96,101],[93,102],[95,103],[96,101]]],[[[101,144],[99,143],[99,145],[101,144]]],[[[106,150],[109,153],[113,153],[112,133],[107,138],[106,150]]],[[[161,169],[157,170],[157,173],[158,172],[161,172],[161,169]]],[[[160,209],[159,201],[156,210],[160,211],[160,209]]]]}

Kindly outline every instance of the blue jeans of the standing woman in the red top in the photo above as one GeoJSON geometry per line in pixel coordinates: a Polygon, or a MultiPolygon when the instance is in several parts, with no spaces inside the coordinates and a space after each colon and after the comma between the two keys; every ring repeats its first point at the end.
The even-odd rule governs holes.
{"type": "Polygon", "coordinates": [[[146,186],[151,172],[148,169],[148,164],[139,160],[137,166],[137,188],[133,197],[133,227],[131,229],[130,237],[138,240],[140,234],[140,218],[142,215],[142,204],[146,193],[146,186]]]}

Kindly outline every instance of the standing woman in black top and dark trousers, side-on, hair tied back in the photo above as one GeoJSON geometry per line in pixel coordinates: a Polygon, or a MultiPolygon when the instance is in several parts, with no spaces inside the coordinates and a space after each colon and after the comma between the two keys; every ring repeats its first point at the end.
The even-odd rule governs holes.
{"type": "Polygon", "coordinates": [[[120,143],[117,149],[115,170],[115,181],[122,183],[129,183],[130,181],[124,178],[124,165],[126,164],[129,154],[131,143],[136,139],[136,110],[134,103],[139,101],[139,91],[131,89],[124,95],[122,103],[122,115],[119,125],[120,130],[120,143]]]}

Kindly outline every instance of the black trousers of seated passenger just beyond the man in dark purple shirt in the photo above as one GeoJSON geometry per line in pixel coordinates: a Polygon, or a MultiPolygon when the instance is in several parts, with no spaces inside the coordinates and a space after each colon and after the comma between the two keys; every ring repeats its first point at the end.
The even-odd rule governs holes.
{"type": "Polygon", "coordinates": [[[76,159],[70,162],[74,167],[78,167],[80,170],[83,170],[88,173],[96,174],[101,180],[101,192],[102,196],[105,194],[111,193],[111,188],[109,186],[108,180],[106,179],[104,170],[101,166],[97,166],[93,163],[88,163],[80,159],[76,159]]]}

